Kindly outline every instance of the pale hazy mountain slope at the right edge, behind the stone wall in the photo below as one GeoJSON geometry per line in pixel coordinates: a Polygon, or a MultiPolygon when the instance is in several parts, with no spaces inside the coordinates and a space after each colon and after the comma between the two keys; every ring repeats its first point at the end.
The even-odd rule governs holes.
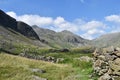
{"type": "Polygon", "coordinates": [[[102,35],[92,40],[91,44],[95,47],[120,47],[120,32],[102,35]]]}

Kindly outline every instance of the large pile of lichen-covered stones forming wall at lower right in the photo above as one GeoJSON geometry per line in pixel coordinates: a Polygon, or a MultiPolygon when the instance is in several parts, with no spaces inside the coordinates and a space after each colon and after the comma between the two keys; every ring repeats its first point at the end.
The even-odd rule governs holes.
{"type": "Polygon", "coordinates": [[[93,69],[98,80],[120,80],[120,48],[95,51],[93,69]]]}

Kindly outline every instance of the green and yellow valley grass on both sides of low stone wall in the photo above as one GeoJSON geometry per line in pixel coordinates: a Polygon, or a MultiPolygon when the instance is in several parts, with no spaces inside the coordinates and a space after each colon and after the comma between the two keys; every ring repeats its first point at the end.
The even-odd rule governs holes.
{"type": "Polygon", "coordinates": [[[26,49],[28,54],[64,58],[60,63],[50,63],[40,60],[27,59],[20,56],[0,54],[0,80],[33,80],[36,75],[48,80],[88,80],[92,73],[92,62],[76,60],[81,56],[91,57],[90,48],[71,49],[70,52],[50,52],[47,48],[39,48],[27,44],[14,44],[12,54],[19,54],[26,49]],[[87,53],[85,53],[85,49],[87,53]],[[33,73],[31,68],[43,69],[44,74],[33,73]]]}

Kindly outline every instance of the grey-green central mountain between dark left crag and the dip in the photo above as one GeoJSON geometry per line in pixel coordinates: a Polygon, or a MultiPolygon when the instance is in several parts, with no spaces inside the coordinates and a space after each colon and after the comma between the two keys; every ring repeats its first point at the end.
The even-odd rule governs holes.
{"type": "Polygon", "coordinates": [[[73,34],[70,31],[55,32],[49,29],[43,29],[36,25],[32,26],[39,38],[44,40],[49,46],[56,48],[70,48],[87,45],[86,39],[73,34]]]}

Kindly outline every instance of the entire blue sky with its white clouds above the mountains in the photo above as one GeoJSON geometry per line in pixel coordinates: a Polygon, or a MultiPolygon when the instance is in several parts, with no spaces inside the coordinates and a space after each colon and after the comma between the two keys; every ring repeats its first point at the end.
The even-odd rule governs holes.
{"type": "Polygon", "coordinates": [[[119,0],[0,0],[0,9],[29,25],[87,39],[120,31],[119,0]]]}

